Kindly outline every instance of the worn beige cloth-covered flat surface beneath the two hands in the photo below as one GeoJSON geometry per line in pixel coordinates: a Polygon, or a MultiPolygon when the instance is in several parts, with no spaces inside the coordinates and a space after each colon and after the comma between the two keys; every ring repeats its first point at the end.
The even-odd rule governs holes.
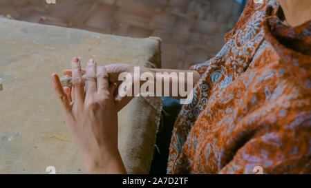
{"type": "MultiPolygon", "coordinates": [[[[160,39],[131,39],[0,19],[0,173],[86,173],[72,142],[50,75],[79,56],[99,65],[160,65],[160,39]]],[[[129,174],[147,174],[162,98],[135,98],[119,113],[119,149],[129,174]]]]}

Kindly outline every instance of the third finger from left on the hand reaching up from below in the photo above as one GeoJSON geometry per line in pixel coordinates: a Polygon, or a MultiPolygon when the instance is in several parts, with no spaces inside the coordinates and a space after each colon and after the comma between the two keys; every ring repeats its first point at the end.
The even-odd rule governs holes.
{"type": "Polygon", "coordinates": [[[88,61],[88,64],[86,66],[86,76],[84,79],[86,95],[95,93],[97,90],[96,62],[93,59],[90,59],[90,61],[88,61]]]}

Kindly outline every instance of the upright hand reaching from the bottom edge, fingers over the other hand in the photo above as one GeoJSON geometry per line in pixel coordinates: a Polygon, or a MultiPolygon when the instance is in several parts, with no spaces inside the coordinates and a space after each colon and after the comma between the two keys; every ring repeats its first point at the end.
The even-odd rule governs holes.
{"type": "Polygon", "coordinates": [[[72,76],[72,90],[62,88],[57,74],[52,80],[86,169],[96,174],[126,173],[117,149],[117,107],[113,100],[116,85],[109,85],[105,67],[97,67],[93,60],[88,61],[82,79],[81,64],[74,58],[72,76]]]}

